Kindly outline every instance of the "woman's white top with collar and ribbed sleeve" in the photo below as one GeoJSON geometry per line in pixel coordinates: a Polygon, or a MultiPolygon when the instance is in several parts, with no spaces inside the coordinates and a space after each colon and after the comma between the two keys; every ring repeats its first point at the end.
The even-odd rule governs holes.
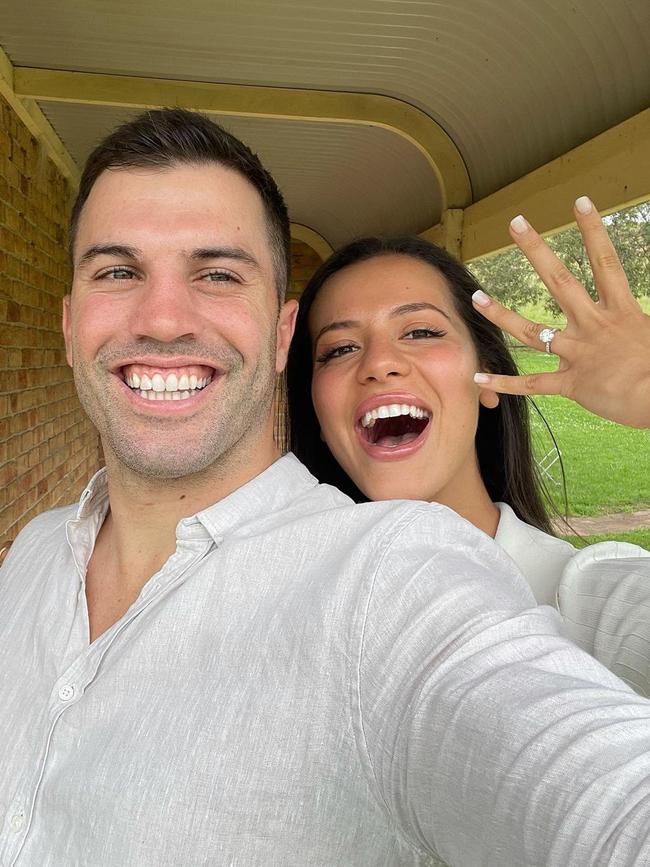
{"type": "Polygon", "coordinates": [[[561,613],[569,638],[650,696],[650,551],[627,542],[576,549],[526,524],[505,503],[495,541],[540,604],[561,613]]]}

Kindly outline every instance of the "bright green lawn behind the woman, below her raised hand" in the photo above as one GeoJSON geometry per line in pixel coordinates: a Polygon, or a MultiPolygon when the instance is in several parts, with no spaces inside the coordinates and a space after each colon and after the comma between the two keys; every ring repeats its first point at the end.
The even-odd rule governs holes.
{"type": "MultiPolygon", "coordinates": [[[[524,373],[557,367],[554,356],[527,348],[515,350],[515,358],[524,373]]],[[[563,397],[540,396],[535,403],[562,454],[569,515],[602,515],[650,507],[650,432],[598,418],[563,397]]],[[[535,413],[531,414],[531,422],[535,452],[543,455],[552,448],[552,442],[535,413]]],[[[551,473],[559,480],[557,464],[551,473]]],[[[561,486],[548,487],[563,512],[561,486]]]]}

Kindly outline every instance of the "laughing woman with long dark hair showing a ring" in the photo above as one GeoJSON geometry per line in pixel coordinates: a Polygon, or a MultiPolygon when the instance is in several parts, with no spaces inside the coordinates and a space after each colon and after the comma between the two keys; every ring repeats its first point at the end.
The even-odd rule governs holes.
{"type": "Polygon", "coordinates": [[[650,582],[650,554],[613,542],[577,552],[553,536],[527,405],[516,396],[563,393],[650,427],[650,317],[588,199],[576,203],[576,219],[600,304],[523,217],[512,223],[567,314],[566,330],[542,333],[544,342],[541,326],[489,299],[422,239],[366,239],[335,253],[301,300],[288,366],[291,444],[317,478],[356,500],[435,500],[467,518],[507,551],[538,602],[558,605],[579,643],[645,692],[646,663],[610,640],[594,600],[625,608],[627,559],[640,558],[650,582]],[[559,371],[517,376],[498,326],[529,346],[552,345],[559,371]]]}

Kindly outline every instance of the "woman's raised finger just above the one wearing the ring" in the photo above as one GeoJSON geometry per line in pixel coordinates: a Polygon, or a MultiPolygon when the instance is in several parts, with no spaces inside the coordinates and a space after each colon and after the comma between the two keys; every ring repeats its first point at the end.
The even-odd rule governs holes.
{"type": "Polygon", "coordinates": [[[521,214],[510,223],[510,237],[541,277],[568,319],[578,320],[593,304],[589,293],[521,214]]]}

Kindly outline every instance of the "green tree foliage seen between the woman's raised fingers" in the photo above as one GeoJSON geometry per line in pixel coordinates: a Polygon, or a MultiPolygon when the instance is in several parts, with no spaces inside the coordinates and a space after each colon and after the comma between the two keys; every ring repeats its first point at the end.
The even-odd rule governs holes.
{"type": "MultiPolygon", "coordinates": [[[[650,296],[650,202],[605,217],[608,231],[636,297],[650,296]]],[[[596,298],[589,259],[574,226],[547,237],[556,255],[596,298]]],[[[508,307],[541,304],[548,314],[561,313],[542,281],[518,250],[505,250],[470,263],[470,269],[493,295],[508,307]]],[[[545,318],[544,316],[540,317],[545,318]]]]}

